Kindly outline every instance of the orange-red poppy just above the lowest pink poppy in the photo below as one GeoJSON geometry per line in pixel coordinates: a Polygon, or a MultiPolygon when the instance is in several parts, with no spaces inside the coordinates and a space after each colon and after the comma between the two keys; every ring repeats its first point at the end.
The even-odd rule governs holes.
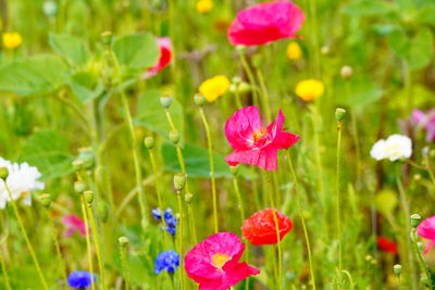
{"type": "Polygon", "coordinates": [[[245,239],[252,244],[274,244],[277,242],[274,212],[278,222],[279,239],[293,229],[291,219],[274,209],[265,209],[248,217],[241,226],[245,239]]]}

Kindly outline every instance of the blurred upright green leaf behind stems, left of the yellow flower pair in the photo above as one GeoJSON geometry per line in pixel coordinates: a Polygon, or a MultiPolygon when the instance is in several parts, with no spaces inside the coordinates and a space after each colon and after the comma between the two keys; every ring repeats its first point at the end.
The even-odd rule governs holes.
{"type": "MultiPolygon", "coordinates": [[[[169,139],[169,133],[172,130],[166,118],[165,110],[160,103],[160,97],[162,96],[159,90],[146,91],[139,100],[137,106],[137,117],[135,123],[147,127],[148,129],[163,136],[169,139]]],[[[184,115],[182,104],[173,98],[170,108],[171,117],[174,122],[175,128],[183,136],[184,131],[184,115]]]]}

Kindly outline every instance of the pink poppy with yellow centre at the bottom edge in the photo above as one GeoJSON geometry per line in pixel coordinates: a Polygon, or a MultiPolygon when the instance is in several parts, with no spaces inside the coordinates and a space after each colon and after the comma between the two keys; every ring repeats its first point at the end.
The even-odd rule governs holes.
{"type": "Polygon", "coordinates": [[[185,259],[187,276],[199,283],[199,290],[227,290],[259,269],[238,263],[245,251],[237,235],[217,232],[199,242],[185,259]]]}

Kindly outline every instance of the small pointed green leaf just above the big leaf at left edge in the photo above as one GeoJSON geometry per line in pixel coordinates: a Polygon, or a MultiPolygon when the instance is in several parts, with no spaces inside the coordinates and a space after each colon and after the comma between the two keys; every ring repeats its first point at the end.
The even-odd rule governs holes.
{"type": "Polygon", "coordinates": [[[78,37],[72,35],[49,35],[51,48],[63,55],[71,65],[82,65],[88,60],[88,52],[85,43],[78,37]]]}

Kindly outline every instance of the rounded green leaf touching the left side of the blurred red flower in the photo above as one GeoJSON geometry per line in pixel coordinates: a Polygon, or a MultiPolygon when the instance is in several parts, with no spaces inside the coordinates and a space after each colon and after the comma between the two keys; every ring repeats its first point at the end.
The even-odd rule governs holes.
{"type": "Polygon", "coordinates": [[[160,58],[159,46],[148,33],[122,36],[112,47],[120,64],[127,67],[151,67],[160,58]]]}

